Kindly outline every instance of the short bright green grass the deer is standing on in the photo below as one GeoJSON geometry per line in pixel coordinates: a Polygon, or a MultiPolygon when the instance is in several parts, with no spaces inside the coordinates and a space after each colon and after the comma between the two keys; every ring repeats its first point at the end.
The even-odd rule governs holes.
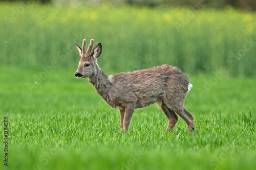
{"type": "Polygon", "coordinates": [[[76,68],[53,70],[32,91],[27,83],[41,71],[0,71],[7,69],[0,77],[0,108],[1,127],[4,116],[9,122],[9,166],[2,162],[1,169],[256,167],[255,79],[225,77],[202,92],[215,76],[191,76],[185,107],[195,117],[193,134],[182,118],[165,133],[167,118],[156,105],[136,109],[124,134],[118,109],[106,105],[87,79],[75,79],[76,68]]]}

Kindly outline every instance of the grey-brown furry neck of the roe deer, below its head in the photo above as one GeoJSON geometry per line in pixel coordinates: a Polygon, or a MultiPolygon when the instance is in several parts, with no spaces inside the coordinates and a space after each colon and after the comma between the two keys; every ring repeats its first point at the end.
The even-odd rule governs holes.
{"type": "Polygon", "coordinates": [[[88,80],[93,84],[94,89],[99,93],[99,95],[108,103],[110,81],[104,71],[97,67],[96,75],[92,75],[88,80]]]}

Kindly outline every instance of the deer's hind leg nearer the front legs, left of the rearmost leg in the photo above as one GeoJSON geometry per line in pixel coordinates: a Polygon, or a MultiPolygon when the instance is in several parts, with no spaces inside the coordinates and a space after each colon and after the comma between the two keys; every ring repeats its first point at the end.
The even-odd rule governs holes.
{"type": "Polygon", "coordinates": [[[169,109],[164,102],[162,102],[162,105],[160,107],[162,109],[162,111],[164,112],[164,114],[166,115],[166,117],[168,118],[168,127],[167,130],[170,132],[170,130],[173,130],[175,124],[178,121],[178,116],[176,115],[176,113],[169,109]]]}

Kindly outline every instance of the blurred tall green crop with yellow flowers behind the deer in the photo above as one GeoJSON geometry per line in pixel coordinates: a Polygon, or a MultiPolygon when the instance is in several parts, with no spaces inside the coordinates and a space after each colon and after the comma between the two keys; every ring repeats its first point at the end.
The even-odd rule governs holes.
{"type": "Polygon", "coordinates": [[[0,15],[4,65],[57,62],[76,69],[74,44],[93,38],[103,45],[98,63],[111,74],[170,64],[190,74],[256,76],[256,14],[251,12],[210,10],[205,4],[191,9],[17,3],[1,4],[0,15]]]}

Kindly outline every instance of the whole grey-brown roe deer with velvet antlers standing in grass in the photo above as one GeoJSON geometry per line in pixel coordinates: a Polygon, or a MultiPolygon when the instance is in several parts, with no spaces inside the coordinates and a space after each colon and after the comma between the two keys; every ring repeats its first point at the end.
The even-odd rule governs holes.
{"type": "Polygon", "coordinates": [[[92,39],[87,51],[86,39],[83,40],[82,47],[75,45],[81,57],[75,77],[88,78],[108,105],[119,108],[122,131],[128,130],[134,109],[153,103],[157,103],[167,116],[168,131],[172,130],[178,121],[176,113],[185,120],[189,131],[194,130],[194,117],[183,105],[192,85],[179,68],[165,64],[107,76],[97,64],[102,49],[101,43],[93,48],[92,39]]]}

